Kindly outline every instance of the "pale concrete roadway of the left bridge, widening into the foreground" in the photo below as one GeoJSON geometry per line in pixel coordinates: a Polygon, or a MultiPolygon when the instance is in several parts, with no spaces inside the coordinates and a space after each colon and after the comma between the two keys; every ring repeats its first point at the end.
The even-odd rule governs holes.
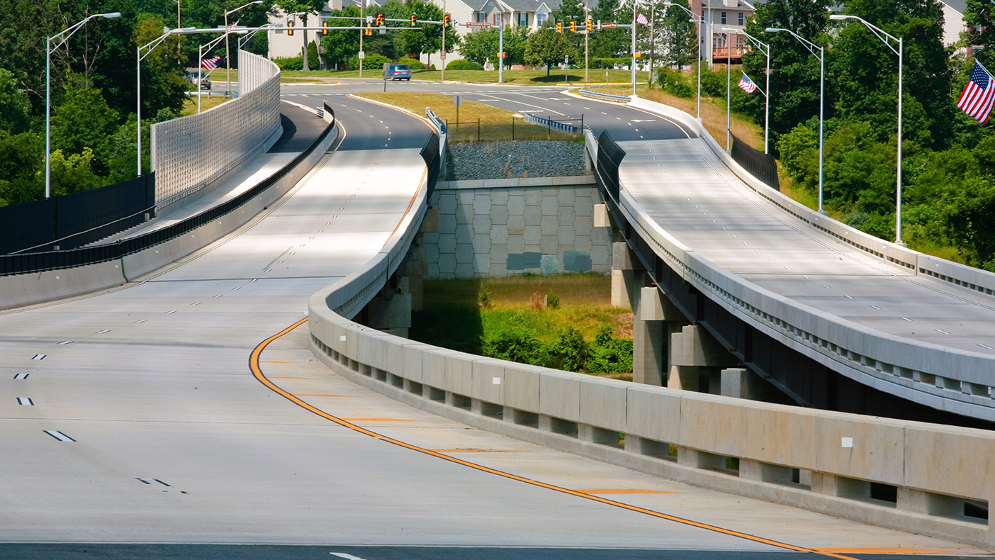
{"type": "Polygon", "coordinates": [[[270,391],[252,375],[253,349],[383,246],[424,170],[425,123],[341,93],[315,93],[335,106],[341,147],[254,223],[124,288],[0,314],[0,557],[980,552],[470,429],[332,374],[307,350],[306,326],[262,353],[272,382],[492,471],[349,430],[270,391]]]}

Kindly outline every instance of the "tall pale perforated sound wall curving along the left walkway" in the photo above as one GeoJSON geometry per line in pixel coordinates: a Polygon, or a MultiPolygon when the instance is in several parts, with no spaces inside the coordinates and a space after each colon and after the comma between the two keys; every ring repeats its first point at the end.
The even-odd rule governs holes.
{"type": "Polygon", "coordinates": [[[244,87],[240,97],[152,125],[156,208],[203,189],[245,160],[280,126],[280,69],[245,51],[239,51],[239,69],[244,87]]]}

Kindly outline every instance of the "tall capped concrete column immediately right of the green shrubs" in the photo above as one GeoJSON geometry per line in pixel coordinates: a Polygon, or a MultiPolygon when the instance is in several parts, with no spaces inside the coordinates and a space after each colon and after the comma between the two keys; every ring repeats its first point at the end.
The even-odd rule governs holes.
{"type": "Polygon", "coordinates": [[[656,286],[637,292],[632,321],[632,380],[663,385],[667,378],[671,334],[680,332],[684,315],[656,286]]]}

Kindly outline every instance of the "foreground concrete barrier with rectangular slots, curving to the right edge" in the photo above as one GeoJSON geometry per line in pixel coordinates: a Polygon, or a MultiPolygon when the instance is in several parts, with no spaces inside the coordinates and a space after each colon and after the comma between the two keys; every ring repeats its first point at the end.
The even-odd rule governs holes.
{"type": "Polygon", "coordinates": [[[308,310],[314,355],[361,385],[471,426],[623,467],[995,546],[989,522],[965,515],[965,500],[987,503],[995,495],[995,434],[638,385],[437,348],[329,308],[328,301],[362,291],[366,280],[357,274],[337,282],[312,296],[308,310]],[[882,489],[895,498],[872,497],[889,493],[882,489]]]}

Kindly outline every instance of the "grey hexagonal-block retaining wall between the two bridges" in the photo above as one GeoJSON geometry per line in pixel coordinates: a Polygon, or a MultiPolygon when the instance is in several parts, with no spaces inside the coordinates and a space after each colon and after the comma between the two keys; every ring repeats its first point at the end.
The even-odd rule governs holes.
{"type": "Polygon", "coordinates": [[[595,227],[591,176],[441,181],[423,226],[428,279],[607,273],[611,230],[595,227]]]}

